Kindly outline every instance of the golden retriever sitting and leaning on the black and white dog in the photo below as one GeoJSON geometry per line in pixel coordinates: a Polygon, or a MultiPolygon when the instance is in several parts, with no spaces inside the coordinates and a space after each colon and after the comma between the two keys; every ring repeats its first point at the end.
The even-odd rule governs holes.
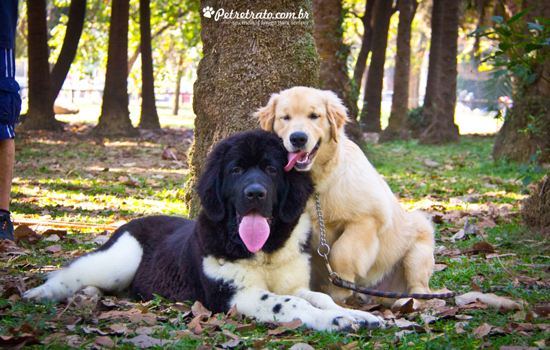
{"type": "MultiPolygon", "coordinates": [[[[311,171],[331,246],[332,269],[363,287],[429,294],[434,228],[423,213],[401,208],[363,151],[347,138],[344,124],[349,119],[338,96],[293,87],[273,94],[254,116],[264,130],[283,139],[289,151],[287,170],[294,166],[311,171]]],[[[329,283],[327,267],[316,253],[320,235],[314,197],[307,203],[307,212],[313,223],[311,287],[344,302],[353,293],[329,283]]]]}

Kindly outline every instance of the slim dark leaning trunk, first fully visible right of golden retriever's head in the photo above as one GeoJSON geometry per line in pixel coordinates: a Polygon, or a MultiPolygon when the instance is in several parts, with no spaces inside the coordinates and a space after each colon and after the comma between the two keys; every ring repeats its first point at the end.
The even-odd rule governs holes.
{"type": "Polygon", "coordinates": [[[363,109],[360,117],[361,127],[366,132],[378,133],[382,131],[380,105],[382,104],[382,88],[384,85],[384,63],[386,62],[390,18],[394,12],[393,1],[380,1],[377,6],[373,41],[371,43],[373,54],[371,56],[369,76],[366,80],[363,109]]]}

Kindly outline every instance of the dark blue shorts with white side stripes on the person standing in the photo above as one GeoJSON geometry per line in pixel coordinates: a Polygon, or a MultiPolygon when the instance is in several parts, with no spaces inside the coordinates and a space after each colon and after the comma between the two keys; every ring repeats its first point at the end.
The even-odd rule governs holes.
{"type": "Polygon", "coordinates": [[[15,55],[13,49],[0,47],[0,141],[15,137],[19,113],[21,96],[15,80],[15,55]]]}

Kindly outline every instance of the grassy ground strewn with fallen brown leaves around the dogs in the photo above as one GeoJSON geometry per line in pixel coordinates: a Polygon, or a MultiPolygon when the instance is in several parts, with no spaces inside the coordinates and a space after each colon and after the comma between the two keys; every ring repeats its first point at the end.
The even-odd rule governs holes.
{"type": "Polygon", "coordinates": [[[394,307],[354,299],[347,307],[383,316],[388,327],[347,334],[309,331],[300,320],[259,323],[234,309],[212,315],[200,303],[162,298],[136,303],[78,294],[63,303],[24,303],[25,290],[104,243],[111,228],[143,215],[186,215],[182,196],[192,130],[92,140],[88,124],[66,129],[20,133],[16,143],[12,211],[16,221],[35,224],[18,226],[15,242],[0,244],[0,347],[538,349],[550,343],[550,241],[522,226],[519,167],[494,164],[490,137],[463,137],[441,147],[371,142],[364,151],[401,204],[425,211],[437,228],[432,289],[465,293],[500,285],[504,290],[496,294],[520,301],[511,308],[489,307],[477,298],[461,305],[404,300],[394,307]],[[52,226],[52,220],[89,227],[52,226]]]}

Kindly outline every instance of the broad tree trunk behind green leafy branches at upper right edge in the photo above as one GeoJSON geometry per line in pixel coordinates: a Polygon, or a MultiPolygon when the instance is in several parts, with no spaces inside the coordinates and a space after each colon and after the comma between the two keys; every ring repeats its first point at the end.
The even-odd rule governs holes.
{"type": "MultiPolygon", "coordinates": [[[[522,9],[533,7],[527,12],[525,19],[520,21],[533,22],[533,16],[550,18],[550,2],[544,0],[525,0],[522,9]]],[[[512,13],[515,14],[515,13],[512,13]]],[[[548,50],[548,49],[546,49],[548,50]]],[[[550,60],[540,65],[538,74],[550,80],[550,60]]],[[[519,81],[520,79],[518,79],[519,81]]],[[[537,80],[527,86],[519,85],[515,88],[513,97],[514,106],[508,109],[503,127],[498,131],[494,140],[494,160],[505,158],[522,164],[529,164],[531,155],[540,152],[537,162],[550,162],[550,83],[538,76],[537,80]],[[532,120],[530,116],[534,116],[532,120]],[[531,128],[528,125],[531,124],[531,128]],[[533,131],[520,132],[523,130],[533,131]],[[537,135],[538,134],[538,135],[537,135]]],[[[550,184],[547,184],[547,187],[550,184]]]]}

